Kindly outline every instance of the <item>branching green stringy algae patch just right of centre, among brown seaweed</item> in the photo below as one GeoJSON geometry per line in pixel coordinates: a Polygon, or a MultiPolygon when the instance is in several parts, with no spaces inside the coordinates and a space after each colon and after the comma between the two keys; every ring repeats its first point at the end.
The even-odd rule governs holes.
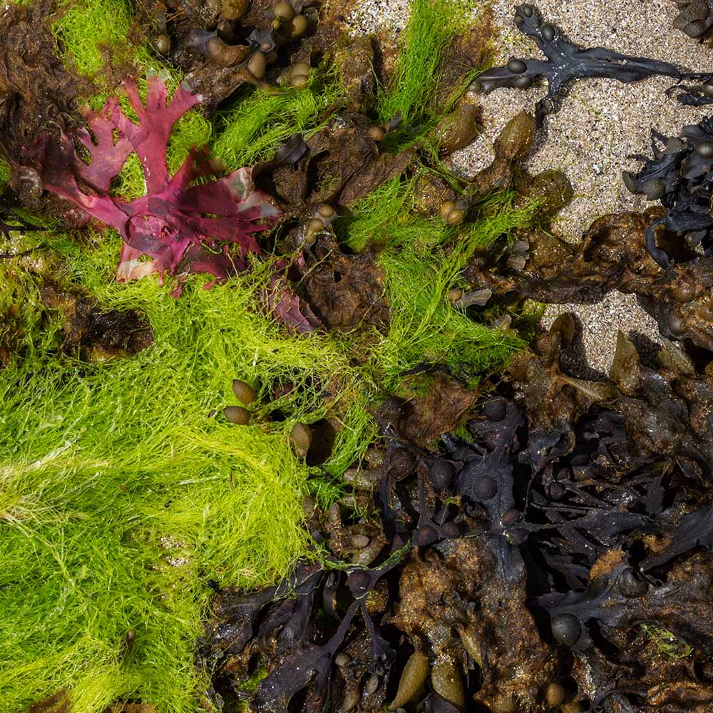
{"type": "Polygon", "coordinates": [[[474,383],[523,345],[512,334],[455,309],[447,293],[458,285],[475,250],[530,224],[536,206],[515,209],[512,196],[501,193],[483,202],[481,216],[470,224],[451,226],[416,213],[416,181],[393,179],[381,185],[354,207],[348,223],[337,223],[337,232],[354,250],[369,242],[380,248],[391,324],[386,338],[373,347],[371,361],[386,391],[421,362],[446,364],[474,383]]]}

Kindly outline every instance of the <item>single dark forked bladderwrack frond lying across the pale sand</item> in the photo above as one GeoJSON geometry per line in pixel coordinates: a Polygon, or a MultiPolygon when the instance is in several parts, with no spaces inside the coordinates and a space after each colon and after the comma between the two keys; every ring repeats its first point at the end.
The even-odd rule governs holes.
{"type": "Polygon", "coordinates": [[[583,49],[568,41],[558,27],[545,22],[533,5],[515,8],[515,26],[531,37],[547,61],[511,58],[505,67],[488,69],[477,78],[478,90],[491,92],[508,87],[527,89],[536,79],[548,81],[548,94],[538,101],[535,116],[541,123],[545,116],[558,111],[568,86],[585,78],[602,77],[620,82],[641,81],[650,76],[669,76],[681,79],[681,68],[655,59],[631,57],[602,47],[583,49]]]}

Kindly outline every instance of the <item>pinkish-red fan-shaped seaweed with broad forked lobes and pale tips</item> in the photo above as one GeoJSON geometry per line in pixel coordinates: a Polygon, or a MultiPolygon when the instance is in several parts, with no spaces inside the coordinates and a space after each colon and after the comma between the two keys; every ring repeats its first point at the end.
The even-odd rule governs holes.
{"type": "Polygon", "coordinates": [[[127,80],[124,87],[138,114],[138,125],[123,114],[116,98],[106,103],[101,115],[87,110],[91,133],[83,129],[75,138],[90,157],[89,163],[80,158],[72,138],[63,136],[56,142],[42,137],[29,156],[44,188],[120,232],[124,245],[117,279],[135,279],[152,272],[163,277],[191,270],[225,279],[244,269],[245,255],[260,252],[251,234],[265,230],[279,215],[274,200],[255,190],[249,168],[213,183],[192,185],[214,173],[205,152],[198,150],[189,153],[178,172],[170,176],[166,147],[171,129],[201,97],[181,86],[167,104],[165,84],[152,77],[144,106],[135,82],[127,80]],[[134,152],[143,168],[146,195],[120,201],[108,190],[134,152]],[[78,180],[89,193],[81,190],[78,180]],[[237,254],[230,253],[231,242],[239,245],[237,254]],[[153,260],[139,262],[142,256],[153,260]]]}

